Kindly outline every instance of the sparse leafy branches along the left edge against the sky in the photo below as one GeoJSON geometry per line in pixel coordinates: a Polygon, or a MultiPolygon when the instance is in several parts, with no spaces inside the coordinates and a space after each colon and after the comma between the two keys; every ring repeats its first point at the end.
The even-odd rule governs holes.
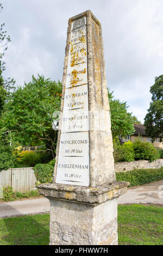
{"type": "MultiPolygon", "coordinates": [[[[0,3],[0,13],[3,7],[0,3]]],[[[3,61],[4,51],[7,50],[8,44],[11,41],[10,36],[7,35],[7,31],[4,30],[4,23],[0,25],[0,115],[2,113],[3,105],[11,89],[15,89],[15,81],[11,78],[5,79],[3,77],[3,71],[5,70],[5,62],[3,61]]]]}

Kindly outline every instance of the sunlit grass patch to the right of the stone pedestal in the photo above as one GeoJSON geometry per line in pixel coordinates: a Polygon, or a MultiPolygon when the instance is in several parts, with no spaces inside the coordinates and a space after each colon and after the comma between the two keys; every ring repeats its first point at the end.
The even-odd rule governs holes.
{"type": "Polygon", "coordinates": [[[163,207],[118,205],[120,245],[163,245],[163,207]]]}

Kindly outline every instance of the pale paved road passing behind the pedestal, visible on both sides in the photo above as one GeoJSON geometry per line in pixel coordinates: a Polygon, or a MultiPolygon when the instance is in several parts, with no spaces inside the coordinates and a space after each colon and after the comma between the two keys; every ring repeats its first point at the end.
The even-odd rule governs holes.
{"type": "MultiPolygon", "coordinates": [[[[118,204],[163,205],[163,180],[139,187],[128,188],[128,192],[118,198],[118,204]]],[[[49,200],[43,197],[0,203],[0,218],[44,214],[49,212],[49,210],[49,200]]]]}

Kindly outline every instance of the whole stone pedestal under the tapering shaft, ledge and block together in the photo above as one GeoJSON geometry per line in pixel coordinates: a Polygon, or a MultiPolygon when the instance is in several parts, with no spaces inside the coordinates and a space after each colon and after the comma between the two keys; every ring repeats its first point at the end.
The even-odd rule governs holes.
{"type": "Polygon", "coordinates": [[[51,202],[50,245],[117,245],[117,198],[128,185],[39,185],[51,202]]]}

